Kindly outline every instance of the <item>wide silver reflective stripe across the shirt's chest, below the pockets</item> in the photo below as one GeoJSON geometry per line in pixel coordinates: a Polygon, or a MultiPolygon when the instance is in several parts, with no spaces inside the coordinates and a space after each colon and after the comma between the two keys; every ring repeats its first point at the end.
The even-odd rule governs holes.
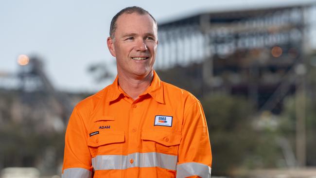
{"type": "Polygon", "coordinates": [[[94,170],[127,169],[130,167],[161,167],[176,170],[176,162],[177,156],[156,152],[133,153],[127,156],[98,155],[92,158],[94,170]]]}

